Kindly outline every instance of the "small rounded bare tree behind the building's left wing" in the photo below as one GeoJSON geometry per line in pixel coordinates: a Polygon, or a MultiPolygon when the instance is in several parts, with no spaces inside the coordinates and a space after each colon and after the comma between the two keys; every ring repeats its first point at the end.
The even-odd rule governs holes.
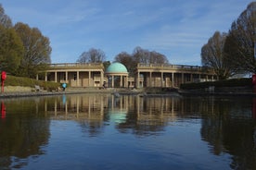
{"type": "Polygon", "coordinates": [[[83,52],[79,56],[79,63],[102,63],[106,58],[105,53],[100,49],[91,48],[88,52],[83,52]]]}

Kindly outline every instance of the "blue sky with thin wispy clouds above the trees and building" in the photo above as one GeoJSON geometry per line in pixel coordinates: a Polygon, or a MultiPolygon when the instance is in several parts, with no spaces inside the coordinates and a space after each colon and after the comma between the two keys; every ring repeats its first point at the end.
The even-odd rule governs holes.
{"type": "Polygon", "coordinates": [[[90,48],[113,61],[136,46],[174,65],[200,66],[203,44],[227,32],[250,0],[0,0],[13,23],[50,39],[52,63],[74,63],[90,48]]]}

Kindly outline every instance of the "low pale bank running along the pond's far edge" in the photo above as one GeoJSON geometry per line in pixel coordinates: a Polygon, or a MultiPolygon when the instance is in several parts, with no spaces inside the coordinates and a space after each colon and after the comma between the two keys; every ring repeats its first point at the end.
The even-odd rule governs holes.
{"type": "Polygon", "coordinates": [[[145,89],[97,89],[97,88],[68,88],[66,91],[32,91],[27,90],[26,87],[19,91],[4,91],[0,92],[0,98],[18,98],[18,97],[34,97],[34,96],[50,96],[62,94],[82,94],[82,93],[119,93],[120,95],[139,95],[140,97],[182,97],[182,96],[243,96],[256,97],[256,92],[250,91],[155,91],[147,92],[145,89]]]}

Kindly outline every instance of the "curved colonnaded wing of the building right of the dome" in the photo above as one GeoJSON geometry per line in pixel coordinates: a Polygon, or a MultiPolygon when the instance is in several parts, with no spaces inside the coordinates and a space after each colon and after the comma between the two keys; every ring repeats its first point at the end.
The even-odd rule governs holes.
{"type": "Polygon", "coordinates": [[[135,73],[136,87],[172,87],[180,84],[213,81],[218,79],[214,71],[207,67],[166,65],[166,64],[138,64],[135,73]]]}

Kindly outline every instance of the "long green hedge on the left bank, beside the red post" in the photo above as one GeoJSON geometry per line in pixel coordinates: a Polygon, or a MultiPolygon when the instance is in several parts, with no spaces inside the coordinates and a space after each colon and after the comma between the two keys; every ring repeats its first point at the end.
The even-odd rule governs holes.
{"type": "Polygon", "coordinates": [[[58,89],[58,87],[60,87],[60,83],[57,82],[14,77],[10,75],[7,75],[7,78],[5,80],[5,86],[23,86],[33,88],[34,85],[43,87],[47,91],[56,90],[58,89]]]}

